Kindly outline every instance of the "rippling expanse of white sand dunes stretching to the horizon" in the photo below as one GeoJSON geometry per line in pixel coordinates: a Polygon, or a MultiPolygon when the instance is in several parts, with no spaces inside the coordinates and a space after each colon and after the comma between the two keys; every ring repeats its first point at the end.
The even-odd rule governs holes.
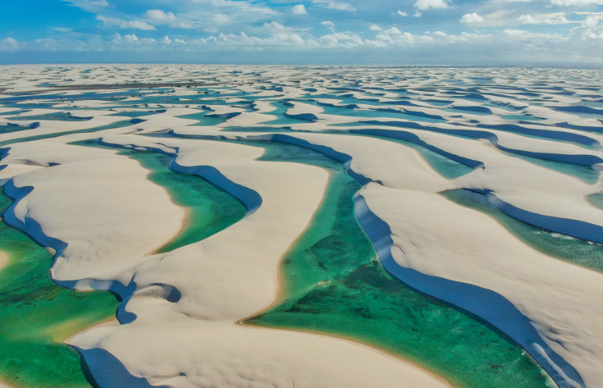
{"type": "MultiPolygon", "coordinates": [[[[8,67],[0,83],[6,94],[45,90],[43,83],[130,83],[145,82],[149,76],[157,82],[185,82],[199,71],[195,74],[200,79],[215,84],[208,86],[208,95],[185,88],[160,95],[149,89],[168,100],[157,103],[141,96],[79,99],[83,90],[70,90],[62,97],[72,97],[73,102],[53,100],[50,109],[19,116],[71,112],[91,120],[32,120],[40,126],[0,134],[0,141],[7,142],[59,136],[130,120],[108,116],[120,111],[162,109],[124,127],[9,144],[1,160],[6,167],[0,170],[0,182],[18,199],[7,221],[58,251],[54,279],[78,289],[113,289],[126,297],[118,314],[121,325],[93,328],[69,340],[103,386],[136,377],[174,387],[447,385],[411,363],[348,340],[238,324],[273,302],[280,258],[308,226],[328,179],[327,171],[318,167],[259,161],[262,148],[212,141],[240,138],[300,144],[344,162],[352,176],[367,183],[356,198],[357,212],[388,270],[500,328],[562,386],[597,387],[603,381],[602,274],[546,256],[489,216],[438,194],[452,188],[488,193],[496,207],[517,219],[598,241],[603,213],[585,197],[603,190],[603,179],[587,183],[576,174],[583,168],[579,165],[602,169],[602,120],[567,111],[584,102],[598,106],[600,85],[598,93],[582,88],[598,85],[596,77],[571,69],[550,70],[546,82],[551,88],[535,89],[532,83],[542,75],[530,69],[520,77],[512,69],[397,69],[403,76],[388,78],[385,69],[351,68],[334,82],[341,69],[317,68],[309,74],[308,69],[287,67],[124,65],[113,71],[114,78],[106,71],[112,68],[102,66],[82,78],[84,68],[15,82],[13,76],[38,74],[41,67],[8,67]],[[233,69],[243,72],[233,74],[233,69]],[[258,76],[259,69],[264,72],[258,76]],[[431,78],[424,76],[426,71],[431,78]],[[493,83],[482,84],[475,78],[479,76],[493,83]],[[448,92],[454,85],[445,82],[452,78],[463,83],[456,94],[448,92]],[[566,82],[567,78],[582,81],[566,82]],[[266,88],[270,82],[273,88],[266,88]],[[573,90],[574,95],[560,95],[553,86],[573,90]],[[539,105],[524,90],[537,91],[539,105]],[[239,97],[241,91],[244,97],[239,97]],[[318,96],[341,114],[303,102],[306,95],[318,96]],[[226,104],[212,104],[215,99],[226,104]],[[283,123],[291,120],[278,127],[291,130],[281,128],[274,134],[270,121],[277,118],[274,111],[281,102],[291,107],[279,118],[283,123]],[[367,111],[367,118],[346,116],[351,105],[367,111]],[[388,117],[399,111],[446,122],[430,123],[420,116],[415,116],[416,123],[412,116],[375,118],[377,108],[388,109],[388,117]],[[454,109],[442,110],[449,108],[454,109]],[[197,125],[203,118],[177,117],[191,113],[208,113],[224,123],[197,125]],[[543,120],[503,118],[525,114],[543,120]],[[381,124],[358,125],[367,120],[381,124]],[[255,132],[245,132],[245,127],[255,132]],[[384,133],[377,129],[404,133],[403,138],[412,137],[416,144],[474,169],[446,179],[413,148],[370,136],[384,133]],[[358,130],[363,133],[345,133],[358,130]],[[163,135],[144,136],[157,132],[163,135]],[[117,148],[67,144],[99,138],[104,144],[176,155],[172,169],[206,174],[235,195],[252,193],[253,198],[242,200],[249,200],[245,203],[253,212],[201,242],[152,254],[179,231],[184,209],[147,179],[146,169],[116,155],[117,148]],[[554,169],[524,156],[566,164],[554,169]],[[376,225],[370,217],[380,222],[379,228],[369,230],[376,225]],[[117,371],[104,373],[107,365],[117,371]]],[[[0,123],[13,123],[17,112],[0,106],[0,123]]]]}

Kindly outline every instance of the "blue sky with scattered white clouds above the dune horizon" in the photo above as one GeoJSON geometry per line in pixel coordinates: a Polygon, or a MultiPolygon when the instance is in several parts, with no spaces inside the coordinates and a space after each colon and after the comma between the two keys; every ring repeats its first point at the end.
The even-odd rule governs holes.
{"type": "Polygon", "coordinates": [[[0,1],[0,64],[603,65],[603,0],[0,1]]]}

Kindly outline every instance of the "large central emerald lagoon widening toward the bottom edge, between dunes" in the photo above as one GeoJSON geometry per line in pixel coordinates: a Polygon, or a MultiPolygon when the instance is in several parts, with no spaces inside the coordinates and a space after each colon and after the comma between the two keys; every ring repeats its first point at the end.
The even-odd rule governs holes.
{"type": "Polygon", "coordinates": [[[432,370],[457,387],[553,387],[538,364],[497,331],[386,272],[355,218],[360,184],[341,163],[290,144],[262,160],[325,167],[331,178],[311,225],[281,263],[276,305],[245,321],[353,338],[432,370]]]}

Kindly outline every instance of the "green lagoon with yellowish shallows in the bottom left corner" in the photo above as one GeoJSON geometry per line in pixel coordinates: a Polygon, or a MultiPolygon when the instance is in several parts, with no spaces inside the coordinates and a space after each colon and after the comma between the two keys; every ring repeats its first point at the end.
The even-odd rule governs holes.
{"type": "MultiPolygon", "coordinates": [[[[4,213],[12,200],[0,194],[4,213]]],[[[26,387],[89,387],[81,357],[62,340],[114,317],[108,291],[78,292],[55,284],[53,255],[20,230],[0,222],[0,378],[26,387]]]]}

